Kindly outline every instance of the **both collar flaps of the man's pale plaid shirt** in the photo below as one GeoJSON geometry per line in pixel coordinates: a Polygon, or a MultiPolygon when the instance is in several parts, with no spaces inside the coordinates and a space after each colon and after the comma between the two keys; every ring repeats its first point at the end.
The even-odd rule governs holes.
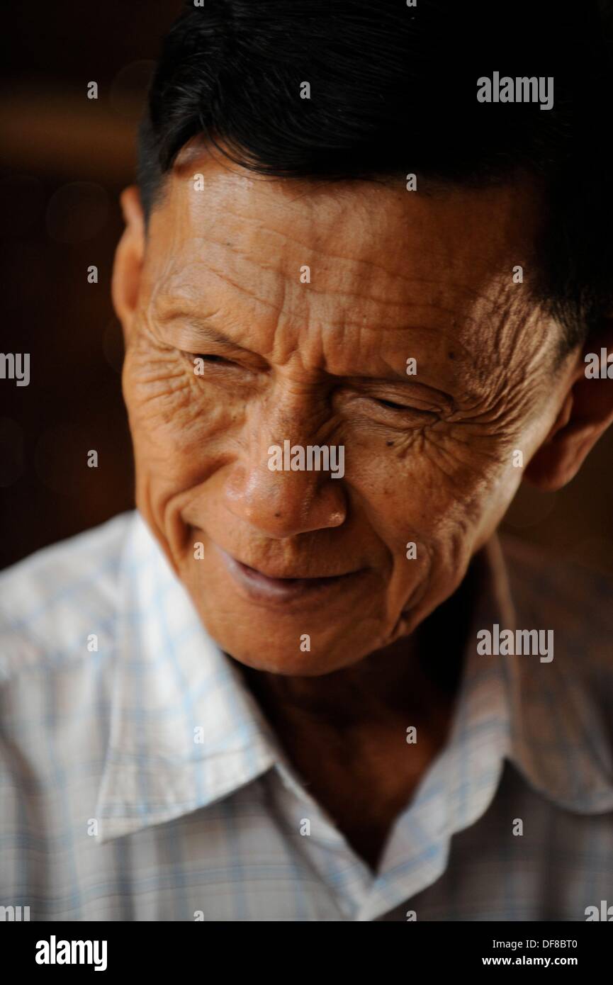
{"type": "MultiPolygon", "coordinates": [[[[517,624],[498,538],[480,552],[473,624],[517,624]]],[[[233,661],[201,624],[140,513],[134,513],[121,563],[111,713],[95,817],[106,841],[204,808],[277,767],[303,794],[255,698],[233,661]]],[[[526,626],[527,627],[527,626],[526,626]]],[[[497,718],[488,763],[508,756],[526,782],[579,812],[613,807],[610,751],[587,689],[564,661],[476,656],[469,639],[457,713],[458,730],[497,718]],[[548,717],[549,716],[549,717],[548,717]],[[573,763],[573,769],[569,764],[573,763]]],[[[459,748],[459,744],[457,744],[459,748]]],[[[435,764],[436,768],[436,764],[435,764]]],[[[487,804],[466,802],[467,826],[487,804]]]]}

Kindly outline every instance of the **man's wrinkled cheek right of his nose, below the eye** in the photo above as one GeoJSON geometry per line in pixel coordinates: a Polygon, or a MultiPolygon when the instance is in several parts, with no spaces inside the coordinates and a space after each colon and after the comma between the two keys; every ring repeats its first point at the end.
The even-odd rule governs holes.
{"type": "Polygon", "coordinates": [[[419,613],[459,584],[518,479],[510,474],[515,470],[502,435],[454,427],[402,435],[391,446],[387,440],[361,448],[353,478],[368,522],[389,552],[389,608],[403,608],[409,599],[419,613]]]}

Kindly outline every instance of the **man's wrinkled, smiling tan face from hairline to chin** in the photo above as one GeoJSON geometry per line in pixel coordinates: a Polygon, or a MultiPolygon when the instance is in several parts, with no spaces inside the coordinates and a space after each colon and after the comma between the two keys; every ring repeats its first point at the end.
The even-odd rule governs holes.
{"type": "Polygon", "coordinates": [[[137,504],[242,663],[348,666],[461,582],[568,385],[559,329],[513,283],[536,215],[517,187],[175,168],[124,326],[137,504]],[[343,446],[344,475],[271,471],[285,441],[343,446]]]}

